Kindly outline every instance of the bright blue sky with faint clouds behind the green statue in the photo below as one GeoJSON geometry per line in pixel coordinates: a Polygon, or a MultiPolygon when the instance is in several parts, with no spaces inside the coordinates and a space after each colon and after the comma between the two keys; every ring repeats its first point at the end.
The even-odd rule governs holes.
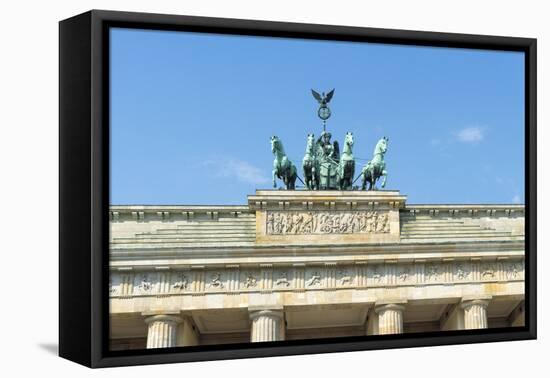
{"type": "Polygon", "coordinates": [[[336,88],[357,172],[389,137],[408,203],[523,203],[523,72],[519,52],[113,29],[111,203],[244,204],[271,187],[271,135],[301,176],[311,88],[336,88]]]}

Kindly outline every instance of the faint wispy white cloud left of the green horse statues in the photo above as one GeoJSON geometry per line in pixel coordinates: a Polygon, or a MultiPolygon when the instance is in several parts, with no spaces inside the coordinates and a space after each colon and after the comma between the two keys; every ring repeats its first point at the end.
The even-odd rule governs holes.
{"type": "Polygon", "coordinates": [[[234,177],[241,182],[253,185],[266,184],[270,181],[261,169],[239,159],[210,159],[206,160],[204,165],[213,168],[214,175],[217,177],[234,177]]]}

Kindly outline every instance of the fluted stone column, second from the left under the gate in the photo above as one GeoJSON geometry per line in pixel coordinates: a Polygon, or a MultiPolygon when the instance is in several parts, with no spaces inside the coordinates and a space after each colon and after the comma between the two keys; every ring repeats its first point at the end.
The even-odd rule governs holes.
{"type": "Polygon", "coordinates": [[[282,310],[254,310],[250,312],[250,320],[252,321],[251,342],[284,340],[285,326],[282,310]]]}

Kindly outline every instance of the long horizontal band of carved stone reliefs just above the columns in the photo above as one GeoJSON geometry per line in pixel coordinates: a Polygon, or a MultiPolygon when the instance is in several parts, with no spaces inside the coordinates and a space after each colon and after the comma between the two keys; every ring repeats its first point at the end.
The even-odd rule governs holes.
{"type": "MultiPolygon", "coordinates": [[[[233,270],[231,271],[235,273],[233,270]]],[[[421,262],[399,264],[366,264],[359,270],[356,265],[336,265],[326,269],[311,267],[281,267],[275,268],[268,276],[269,288],[274,290],[319,290],[319,289],[351,289],[359,287],[405,286],[414,283],[422,285],[439,285],[442,283],[471,283],[487,281],[519,281],[524,279],[524,264],[521,260],[506,262],[483,262],[480,264],[479,275],[473,274],[473,265],[467,261],[421,262]],[[449,265],[450,264],[450,265],[449,265]],[[390,269],[391,268],[391,269],[390,269]],[[448,272],[448,274],[445,274],[448,272]]],[[[262,271],[260,269],[245,269],[236,275],[238,285],[231,285],[228,271],[200,271],[199,281],[193,279],[189,271],[175,271],[167,282],[166,293],[196,294],[219,293],[220,291],[247,292],[263,288],[262,271]],[[229,281],[228,281],[229,280],[229,281]],[[203,284],[197,284],[202,282],[203,284]]],[[[166,283],[162,274],[156,272],[140,272],[135,275],[112,274],[109,277],[109,295],[125,297],[131,295],[157,295],[166,283]],[[133,281],[133,282],[132,282],[133,281]],[[131,285],[133,283],[133,285],[131,285]]],[[[235,276],[235,275],[234,275],[235,276]]],[[[163,291],[164,292],[164,291],[163,291]]]]}

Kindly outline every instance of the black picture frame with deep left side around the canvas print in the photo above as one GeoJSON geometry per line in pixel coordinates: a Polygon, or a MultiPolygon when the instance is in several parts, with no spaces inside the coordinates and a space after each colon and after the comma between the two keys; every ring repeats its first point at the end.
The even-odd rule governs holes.
{"type": "Polygon", "coordinates": [[[92,10],[59,24],[59,355],[88,367],[535,339],[536,39],[92,10]],[[111,27],[180,30],[525,53],[526,325],[109,351],[109,38],[111,27]]]}

